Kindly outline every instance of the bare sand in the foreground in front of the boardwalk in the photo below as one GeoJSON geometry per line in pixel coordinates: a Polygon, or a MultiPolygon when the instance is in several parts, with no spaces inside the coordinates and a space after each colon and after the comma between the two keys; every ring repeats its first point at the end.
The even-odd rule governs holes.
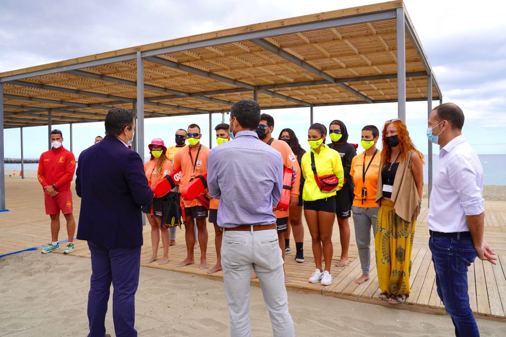
{"type": "MultiPolygon", "coordinates": [[[[72,255],[24,252],[0,259],[0,335],[82,336],[91,260],[72,255]]],[[[111,291],[112,295],[112,291],[111,291]]],[[[289,308],[299,336],[448,336],[449,316],[414,313],[321,295],[289,291],[289,308]]],[[[260,288],[251,287],[255,336],[272,335],[260,288]]],[[[223,282],[141,267],[136,328],[141,336],[228,335],[223,282]]],[[[506,323],[478,319],[482,336],[503,335],[506,323]]],[[[106,329],[114,335],[112,306],[106,329]]]]}

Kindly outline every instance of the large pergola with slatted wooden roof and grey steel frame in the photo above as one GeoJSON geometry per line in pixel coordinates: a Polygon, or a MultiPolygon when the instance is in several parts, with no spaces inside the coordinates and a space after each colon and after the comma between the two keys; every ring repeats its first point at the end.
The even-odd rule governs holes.
{"type": "MultiPolygon", "coordinates": [[[[311,122],[314,107],[397,102],[405,121],[406,102],[427,101],[430,113],[442,94],[402,1],[0,73],[0,210],[4,128],[20,127],[22,142],[23,127],[70,124],[72,137],[73,123],[104,121],[107,110],[123,107],[136,110],[144,144],[144,118],[208,114],[211,128],[212,114],[244,98],[262,110],[306,107],[311,122]]],[[[137,151],[144,158],[144,147],[137,151]]]]}

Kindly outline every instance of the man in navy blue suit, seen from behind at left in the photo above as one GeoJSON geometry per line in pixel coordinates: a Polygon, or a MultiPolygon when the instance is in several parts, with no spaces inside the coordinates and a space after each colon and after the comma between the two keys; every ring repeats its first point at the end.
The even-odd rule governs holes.
{"type": "Polygon", "coordinates": [[[153,192],[143,161],[130,145],[134,112],[113,108],[105,118],[104,139],[81,152],[75,189],[81,198],[77,238],[87,240],[92,276],[88,294],[88,336],[105,335],[111,282],[112,316],[117,336],[137,336],[135,293],[141,263],[141,206],[153,192]]]}

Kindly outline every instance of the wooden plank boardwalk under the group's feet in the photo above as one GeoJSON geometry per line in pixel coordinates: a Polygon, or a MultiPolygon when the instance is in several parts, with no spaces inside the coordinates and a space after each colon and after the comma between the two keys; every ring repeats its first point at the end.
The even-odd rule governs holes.
{"type": "MultiPolygon", "coordinates": [[[[6,177],[7,208],[10,212],[0,213],[0,256],[13,252],[32,249],[31,254],[40,254],[40,247],[46,245],[50,239],[49,216],[44,211],[44,196],[40,185],[34,179],[21,180],[6,177]]],[[[73,188],[73,186],[72,186],[73,188]]],[[[74,189],[73,189],[74,190],[74,189]]],[[[78,220],[80,199],[74,195],[74,216],[78,220]]],[[[427,200],[424,201],[427,205],[427,200]]],[[[469,295],[471,308],[477,317],[506,321],[506,203],[487,202],[485,217],[485,239],[498,254],[497,265],[483,263],[476,259],[471,265],[469,275],[469,295]]],[[[444,314],[444,307],[436,293],[435,272],[431,261],[431,252],[428,247],[429,231],[427,229],[427,208],[423,208],[416,225],[415,240],[412,253],[412,269],[410,275],[410,297],[399,305],[392,305],[379,299],[380,290],[377,284],[377,274],[374,259],[374,248],[371,246],[370,279],[362,284],[354,282],[361,275],[360,261],[353,220],[350,218],[351,243],[350,264],[346,267],[332,267],[332,285],[323,287],[311,284],[307,280],[314,271],[314,258],[311,253],[311,239],[308,230],[305,233],[305,263],[294,261],[294,253],[286,255],[285,268],[291,282],[287,283],[288,290],[320,293],[324,296],[333,296],[353,301],[372,303],[392,308],[407,309],[433,314],[444,314]]],[[[65,219],[61,217],[60,241],[66,239],[65,219]]],[[[306,226],[306,225],[305,225],[306,226]]],[[[306,228],[306,227],[305,227],[306,228]]],[[[214,246],[214,227],[207,226],[209,241],[207,246],[207,261],[210,267],[216,263],[214,246]]],[[[333,264],[339,260],[341,246],[339,245],[339,230],[334,227],[332,237],[334,243],[333,264]]],[[[150,228],[144,228],[144,242],[142,247],[142,260],[146,261],[151,255],[150,228]]],[[[293,239],[291,239],[294,248],[293,239]]],[[[76,251],[72,255],[90,257],[86,242],[76,241],[76,251]]],[[[61,253],[63,249],[57,251],[61,253]]],[[[161,253],[161,247],[160,251],[161,253]]],[[[177,231],[177,245],[169,251],[171,261],[163,266],[157,262],[143,266],[189,273],[209,278],[222,278],[222,272],[209,275],[201,270],[198,264],[177,268],[176,265],[186,257],[184,231],[177,231]]],[[[48,254],[48,258],[49,254],[48,254]]],[[[195,261],[200,259],[200,250],[195,251],[195,261]]],[[[162,272],[160,272],[162,276],[162,272]]],[[[258,285],[257,280],[252,281],[258,285]]]]}

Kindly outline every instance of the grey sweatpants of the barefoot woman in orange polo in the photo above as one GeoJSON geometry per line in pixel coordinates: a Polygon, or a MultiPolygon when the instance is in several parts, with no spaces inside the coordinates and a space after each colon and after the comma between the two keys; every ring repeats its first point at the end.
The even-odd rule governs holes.
{"type": "Polygon", "coordinates": [[[370,243],[371,243],[371,227],[372,233],[376,226],[376,218],[379,207],[357,207],[351,208],[353,212],[353,223],[355,224],[355,241],[358,247],[358,256],[360,257],[360,265],[362,273],[369,275],[369,261],[370,261],[370,243]]]}

